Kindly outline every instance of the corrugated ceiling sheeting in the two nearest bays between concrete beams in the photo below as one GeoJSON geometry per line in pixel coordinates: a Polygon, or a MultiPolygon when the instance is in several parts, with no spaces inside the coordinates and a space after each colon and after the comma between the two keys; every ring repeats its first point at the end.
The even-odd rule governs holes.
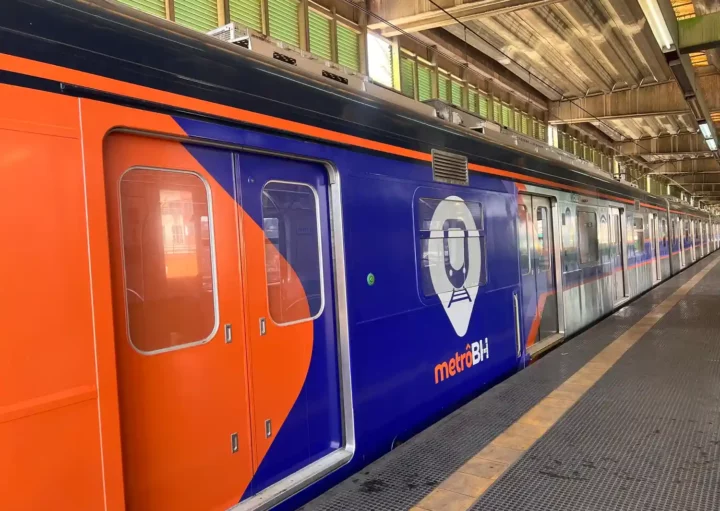
{"type": "MultiPolygon", "coordinates": [[[[552,84],[557,97],[551,99],[610,93],[673,79],[635,0],[566,0],[477,19],[468,26],[485,41],[458,24],[446,29],[479,49],[488,42],[500,48],[552,84]]],[[[696,130],[689,112],[593,124],[614,140],[696,130]]]]}

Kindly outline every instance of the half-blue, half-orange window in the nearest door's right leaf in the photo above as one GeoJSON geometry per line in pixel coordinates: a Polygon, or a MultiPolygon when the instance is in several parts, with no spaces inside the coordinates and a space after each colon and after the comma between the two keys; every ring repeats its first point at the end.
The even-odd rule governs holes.
{"type": "Polygon", "coordinates": [[[315,319],[324,307],[317,203],[306,184],[269,181],[263,187],[268,306],[279,325],[315,319]]]}

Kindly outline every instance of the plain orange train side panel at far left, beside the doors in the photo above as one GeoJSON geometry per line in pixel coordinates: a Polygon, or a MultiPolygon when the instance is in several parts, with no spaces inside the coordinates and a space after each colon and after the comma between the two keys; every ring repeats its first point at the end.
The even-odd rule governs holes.
{"type": "Polygon", "coordinates": [[[0,508],[102,509],[78,100],[0,98],[0,508]]]}

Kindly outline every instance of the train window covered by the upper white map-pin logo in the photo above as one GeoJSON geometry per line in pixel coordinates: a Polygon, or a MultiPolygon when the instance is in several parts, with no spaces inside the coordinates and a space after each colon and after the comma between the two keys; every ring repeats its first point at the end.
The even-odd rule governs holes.
{"type": "Polygon", "coordinates": [[[469,298],[467,288],[487,282],[482,205],[421,198],[417,215],[423,294],[452,293],[453,302],[469,298]]]}

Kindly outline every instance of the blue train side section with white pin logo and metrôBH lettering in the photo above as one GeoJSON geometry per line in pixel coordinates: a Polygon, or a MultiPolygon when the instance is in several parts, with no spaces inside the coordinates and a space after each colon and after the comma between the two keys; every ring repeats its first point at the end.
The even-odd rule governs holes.
{"type": "MultiPolygon", "coordinates": [[[[519,356],[513,295],[520,293],[520,274],[512,182],[473,174],[467,187],[440,184],[427,164],[176,121],[192,137],[326,161],[340,176],[356,451],[349,464],[281,507],[293,508],[325,491],[518,369],[522,351],[519,356]]],[[[241,158],[259,166],[253,156],[241,158]]],[[[241,175],[242,168],[241,162],[241,175]]],[[[285,179],[300,179],[290,174],[285,179]]],[[[282,180],[283,170],[273,175],[282,180]]],[[[246,181],[240,185],[246,188],[244,208],[245,197],[259,195],[246,181]]],[[[327,366],[323,356],[313,354],[311,367],[327,366]]],[[[309,374],[303,392],[317,394],[322,386],[309,374]]],[[[304,409],[293,408],[246,496],[276,480],[279,466],[287,465],[288,449],[301,435],[299,424],[306,424],[295,415],[304,409]]],[[[317,445],[339,443],[331,430],[317,429],[324,437],[317,445]]],[[[316,449],[299,462],[326,452],[316,449]]]]}

